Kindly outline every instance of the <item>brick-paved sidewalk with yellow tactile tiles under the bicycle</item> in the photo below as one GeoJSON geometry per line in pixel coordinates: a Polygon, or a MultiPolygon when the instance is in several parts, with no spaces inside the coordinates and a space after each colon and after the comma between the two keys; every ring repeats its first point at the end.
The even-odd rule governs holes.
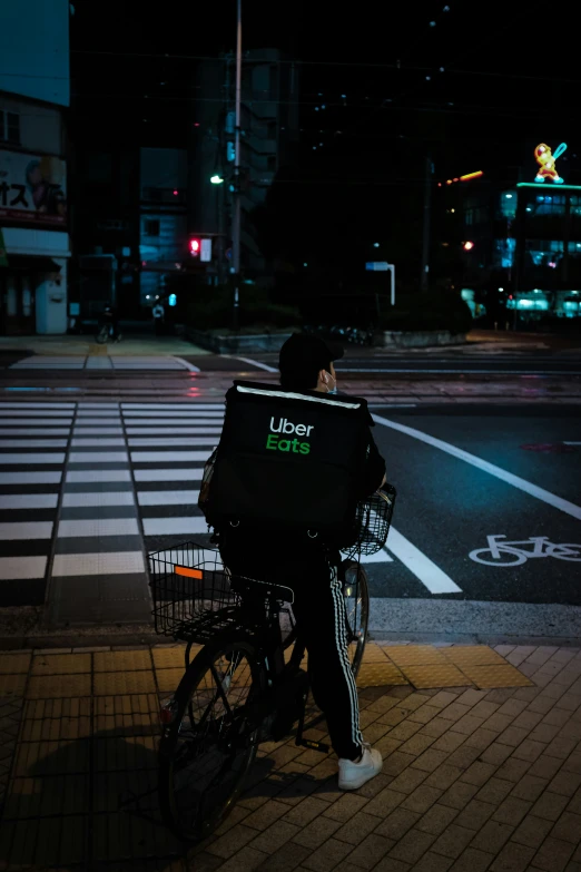
{"type": "Polygon", "coordinates": [[[262,746],[188,854],[155,793],[159,699],[181,672],[178,646],[0,654],[1,870],[581,869],[579,648],[370,645],[362,726],[383,773],[343,794],[332,755],[262,746]]]}

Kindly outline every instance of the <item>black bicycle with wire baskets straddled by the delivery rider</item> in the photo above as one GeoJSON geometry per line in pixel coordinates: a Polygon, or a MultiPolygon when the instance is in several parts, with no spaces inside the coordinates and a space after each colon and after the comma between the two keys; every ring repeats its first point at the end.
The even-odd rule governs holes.
{"type": "MultiPolygon", "coordinates": [[[[357,675],[367,637],[367,577],[353,555],[386,541],[395,489],[360,503],[356,536],[339,572],[346,599],[349,662],[357,675]]],[[[297,723],[297,746],[328,752],[305,738],[309,682],[305,644],[285,633],[293,591],[233,576],[219,555],[194,542],[149,556],[156,631],[187,643],[186,672],[160,709],[158,795],[168,829],[199,841],[225,820],[265,741],[282,741],[297,723]],[[204,647],[190,662],[195,643],[204,647]]],[[[288,629],[288,627],[287,627],[288,629]]]]}

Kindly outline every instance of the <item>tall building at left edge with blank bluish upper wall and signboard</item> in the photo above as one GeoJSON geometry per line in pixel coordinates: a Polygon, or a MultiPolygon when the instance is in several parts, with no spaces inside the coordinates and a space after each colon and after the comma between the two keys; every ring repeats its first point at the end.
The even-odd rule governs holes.
{"type": "Polygon", "coordinates": [[[0,333],[65,333],[69,2],[9,7],[0,28],[0,333]]]}

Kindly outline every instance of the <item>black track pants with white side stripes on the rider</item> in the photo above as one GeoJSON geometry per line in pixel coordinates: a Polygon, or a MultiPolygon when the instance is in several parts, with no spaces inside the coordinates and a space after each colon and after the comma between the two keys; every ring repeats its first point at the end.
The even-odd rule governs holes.
{"type": "Polygon", "coordinates": [[[225,565],[235,575],[286,585],[295,594],[293,610],[308,651],[313,696],[324,712],[337,757],[362,753],[360,707],[347,656],[345,601],[336,567],[324,552],[298,542],[267,545],[237,531],[221,537],[225,565]]]}

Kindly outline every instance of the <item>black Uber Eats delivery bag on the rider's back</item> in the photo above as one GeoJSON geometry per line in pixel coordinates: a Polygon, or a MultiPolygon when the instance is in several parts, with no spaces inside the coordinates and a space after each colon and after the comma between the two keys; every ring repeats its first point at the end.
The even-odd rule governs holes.
{"type": "Polygon", "coordinates": [[[365,400],[234,382],[200,501],[208,523],[219,530],[246,521],[348,539],[368,423],[365,400]]]}

